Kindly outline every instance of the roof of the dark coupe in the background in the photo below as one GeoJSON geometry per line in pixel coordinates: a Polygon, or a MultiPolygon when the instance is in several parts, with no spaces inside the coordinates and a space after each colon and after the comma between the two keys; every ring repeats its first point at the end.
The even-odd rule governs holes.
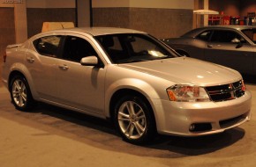
{"type": "Polygon", "coordinates": [[[181,37],[195,37],[199,33],[208,30],[208,29],[219,29],[219,30],[245,30],[245,29],[256,29],[256,26],[253,25],[209,25],[209,26],[203,26],[199,28],[195,28],[187,33],[184,33],[181,37]]]}

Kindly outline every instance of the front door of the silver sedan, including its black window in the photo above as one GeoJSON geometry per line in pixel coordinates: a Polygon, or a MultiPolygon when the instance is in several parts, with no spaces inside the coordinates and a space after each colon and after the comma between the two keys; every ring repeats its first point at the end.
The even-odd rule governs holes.
{"type": "Polygon", "coordinates": [[[89,113],[102,113],[106,69],[82,66],[81,58],[96,55],[94,47],[80,37],[67,36],[63,57],[56,64],[58,101],[89,113]]]}

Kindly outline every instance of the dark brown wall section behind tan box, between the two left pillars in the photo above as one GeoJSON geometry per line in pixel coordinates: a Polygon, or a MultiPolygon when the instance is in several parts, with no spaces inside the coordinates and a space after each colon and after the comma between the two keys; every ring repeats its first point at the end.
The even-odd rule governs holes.
{"type": "Polygon", "coordinates": [[[76,10],[74,8],[27,8],[26,17],[28,38],[41,33],[43,22],[73,22],[76,24],[76,10]]]}

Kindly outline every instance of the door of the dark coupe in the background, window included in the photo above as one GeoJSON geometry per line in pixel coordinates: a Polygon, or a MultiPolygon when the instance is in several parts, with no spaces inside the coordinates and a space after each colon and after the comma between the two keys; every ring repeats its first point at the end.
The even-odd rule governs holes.
{"type": "Polygon", "coordinates": [[[252,73],[253,47],[233,31],[215,31],[205,49],[205,60],[237,69],[241,73],[252,73]],[[241,43],[235,43],[234,40],[241,43]],[[233,40],[233,42],[232,42],[233,40]]]}

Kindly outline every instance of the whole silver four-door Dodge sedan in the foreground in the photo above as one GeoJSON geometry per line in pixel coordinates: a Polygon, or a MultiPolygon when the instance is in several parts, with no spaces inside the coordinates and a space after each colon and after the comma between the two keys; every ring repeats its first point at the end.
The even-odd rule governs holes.
{"type": "Polygon", "coordinates": [[[233,69],[181,57],[147,33],[74,28],[10,45],[2,80],[21,111],[34,101],[112,120],[123,139],[221,133],[250,119],[251,93],[233,69]]]}

